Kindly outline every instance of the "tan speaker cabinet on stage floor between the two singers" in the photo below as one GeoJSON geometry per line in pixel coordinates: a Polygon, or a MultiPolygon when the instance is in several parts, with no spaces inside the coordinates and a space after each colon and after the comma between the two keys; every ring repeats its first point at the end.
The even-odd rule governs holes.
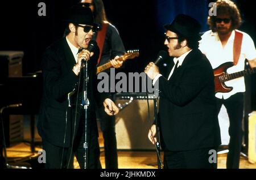
{"type": "MultiPolygon", "coordinates": [[[[115,104],[125,104],[128,100],[116,100],[115,104]]],[[[133,100],[115,117],[117,149],[150,150],[155,146],[148,140],[148,130],[154,121],[154,102],[148,100],[150,121],[148,121],[147,100],[133,100]]]]}

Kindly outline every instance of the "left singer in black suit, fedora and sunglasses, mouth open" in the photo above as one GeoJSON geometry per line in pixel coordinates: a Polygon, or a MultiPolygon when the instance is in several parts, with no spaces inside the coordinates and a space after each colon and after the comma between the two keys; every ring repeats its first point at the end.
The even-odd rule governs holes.
{"type": "MultiPolygon", "coordinates": [[[[86,50],[96,28],[90,8],[74,6],[67,18],[66,36],[49,46],[43,56],[43,100],[40,108],[38,131],[46,151],[46,168],[72,168],[76,156],[80,168],[85,165],[85,132],[88,138],[87,168],[101,168],[100,148],[95,109],[97,99],[96,63],[98,47],[93,52],[86,50]],[[81,61],[88,61],[88,127],[85,131],[85,113],[82,104],[82,82],[79,82],[81,61]],[[75,95],[69,92],[75,90],[75,95]],[[77,95],[78,94],[78,95],[77,95]],[[71,94],[69,94],[71,95],[71,94]],[[76,99],[76,97],[79,97],[76,99]],[[72,101],[73,100],[73,101],[72,101]],[[78,107],[76,108],[76,102],[78,107]]],[[[81,75],[83,77],[83,75],[81,75]]],[[[82,79],[82,78],[81,78],[82,79]]],[[[109,115],[118,113],[118,108],[107,96],[104,101],[109,115]]]]}

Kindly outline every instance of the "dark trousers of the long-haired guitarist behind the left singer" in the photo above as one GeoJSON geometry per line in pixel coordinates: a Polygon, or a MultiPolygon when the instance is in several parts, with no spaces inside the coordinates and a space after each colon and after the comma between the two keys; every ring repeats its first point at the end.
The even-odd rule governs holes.
{"type": "Polygon", "coordinates": [[[117,138],[115,136],[115,117],[106,114],[104,107],[97,109],[100,128],[104,138],[106,169],[117,169],[117,138]]]}

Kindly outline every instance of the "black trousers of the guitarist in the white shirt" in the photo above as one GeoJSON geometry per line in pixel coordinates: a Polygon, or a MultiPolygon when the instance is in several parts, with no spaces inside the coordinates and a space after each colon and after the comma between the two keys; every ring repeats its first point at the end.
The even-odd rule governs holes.
{"type": "Polygon", "coordinates": [[[243,119],[243,93],[236,93],[228,99],[217,98],[217,110],[220,112],[222,104],[226,107],[229,116],[229,152],[226,168],[238,169],[242,147],[242,119],[243,119]]]}

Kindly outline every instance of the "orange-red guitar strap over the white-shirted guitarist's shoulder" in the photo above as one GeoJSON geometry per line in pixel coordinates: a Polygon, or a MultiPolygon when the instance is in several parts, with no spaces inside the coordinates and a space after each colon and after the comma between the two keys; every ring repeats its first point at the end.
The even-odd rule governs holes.
{"type": "Polygon", "coordinates": [[[238,63],[238,59],[241,53],[243,34],[241,32],[235,31],[234,37],[234,46],[233,46],[233,61],[236,66],[238,63]]]}

